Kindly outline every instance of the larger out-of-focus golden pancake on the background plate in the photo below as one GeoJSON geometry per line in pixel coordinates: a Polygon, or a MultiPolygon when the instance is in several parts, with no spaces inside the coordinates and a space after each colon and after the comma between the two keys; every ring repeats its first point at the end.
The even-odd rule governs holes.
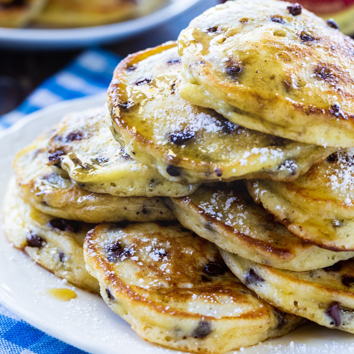
{"type": "Polygon", "coordinates": [[[46,27],[85,27],[147,15],[164,0],[49,0],[36,17],[46,27]]]}

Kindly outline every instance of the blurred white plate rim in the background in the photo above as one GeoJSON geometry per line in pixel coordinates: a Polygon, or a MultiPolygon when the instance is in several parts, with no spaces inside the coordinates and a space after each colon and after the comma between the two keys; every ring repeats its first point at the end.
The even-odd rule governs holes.
{"type": "Polygon", "coordinates": [[[102,26],[66,29],[0,27],[0,47],[16,49],[64,49],[104,44],[157,26],[180,15],[200,0],[167,0],[149,15],[102,26]]]}

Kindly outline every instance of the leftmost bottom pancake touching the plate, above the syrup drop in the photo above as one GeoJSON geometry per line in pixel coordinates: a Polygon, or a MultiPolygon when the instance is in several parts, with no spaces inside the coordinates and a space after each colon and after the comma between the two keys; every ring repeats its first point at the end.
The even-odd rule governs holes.
{"type": "Polygon", "coordinates": [[[34,262],[81,289],[99,292],[98,282],[85,269],[82,246],[94,224],[53,218],[19,198],[11,181],[5,198],[4,231],[10,242],[34,262]]]}

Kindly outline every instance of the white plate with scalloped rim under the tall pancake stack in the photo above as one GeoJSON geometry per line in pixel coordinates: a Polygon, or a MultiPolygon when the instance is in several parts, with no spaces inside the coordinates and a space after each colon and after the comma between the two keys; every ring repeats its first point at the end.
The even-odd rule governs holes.
{"type": "MultiPolygon", "coordinates": [[[[10,165],[15,153],[65,113],[101,105],[104,101],[105,94],[61,102],[30,114],[0,135],[1,205],[7,183],[13,175],[10,165]]],[[[177,353],[143,341],[100,297],[65,284],[12,247],[2,229],[0,303],[49,335],[92,354],[177,353]],[[69,302],[59,302],[45,295],[45,289],[57,287],[72,289],[77,297],[69,302]]],[[[350,333],[307,324],[287,336],[241,351],[245,354],[354,353],[353,339],[350,333]]]]}

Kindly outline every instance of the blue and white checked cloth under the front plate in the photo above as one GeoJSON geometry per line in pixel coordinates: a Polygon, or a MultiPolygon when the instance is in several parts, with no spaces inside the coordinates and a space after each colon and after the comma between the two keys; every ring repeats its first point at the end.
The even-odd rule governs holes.
{"type": "MultiPolygon", "coordinates": [[[[53,103],[107,90],[120,59],[102,49],[83,52],[63,70],[45,80],[15,111],[0,117],[0,130],[53,103]]],[[[0,354],[84,353],[34,328],[0,305],[0,354]]]]}

